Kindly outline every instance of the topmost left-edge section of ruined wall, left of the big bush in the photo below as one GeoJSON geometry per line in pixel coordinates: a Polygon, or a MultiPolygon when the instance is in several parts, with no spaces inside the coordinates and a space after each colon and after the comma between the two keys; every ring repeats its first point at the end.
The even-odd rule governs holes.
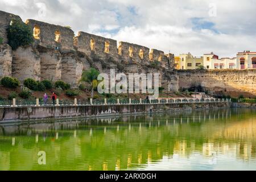
{"type": "Polygon", "coordinates": [[[0,11],[0,37],[3,38],[3,43],[8,42],[6,30],[9,27],[12,19],[22,21],[22,19],[17,15],[0,11]]]}

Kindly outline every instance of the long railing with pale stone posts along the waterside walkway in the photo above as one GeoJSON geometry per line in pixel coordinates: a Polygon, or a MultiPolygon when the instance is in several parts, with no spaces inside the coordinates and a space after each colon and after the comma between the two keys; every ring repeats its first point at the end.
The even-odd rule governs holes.
{"type": "Polygon", "coordinates": [[[51,100],[44,102],[36,98],[35,100],[16,100],[13,98],[13,101],[6,100],[0,101],[0,107],[23,107],[23,106],[83,106],[83,105],[154,105],[154,104],[192,104],[192,103],[217,103],[217,102],[232,102],[231,99],[218,99],[218,98],[206,98],[206,99],[197,99],[197,98],[159,98],[157,100],[113,100],[113,99],[104,99],[104,100],[57,100],[53,103],[51,100]]]}

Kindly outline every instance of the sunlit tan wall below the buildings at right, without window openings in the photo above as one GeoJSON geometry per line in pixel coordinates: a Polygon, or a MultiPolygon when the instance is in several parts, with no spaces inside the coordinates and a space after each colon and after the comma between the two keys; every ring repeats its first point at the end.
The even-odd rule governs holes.
{"type": "Polygon", "coordinates": [[[179,70],[179,86],[189,88],[200,84],[212,91],[249,92],[256,95],[256,69],[248,70],[179,70]]]}

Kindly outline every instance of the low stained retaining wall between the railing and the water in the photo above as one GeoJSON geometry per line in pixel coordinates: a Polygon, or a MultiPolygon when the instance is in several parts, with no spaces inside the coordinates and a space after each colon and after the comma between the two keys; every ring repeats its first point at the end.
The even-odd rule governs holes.
{"type": "Polygon", "coordinates": [[[0,108],[0,123],[36,119],[106,117],[118,114],[143,114],[193,109],[212,109],[230,107],[230,102],[199,104],[154,104],[154,105],[92,105],[92,106],[42,106],[42,107],[5,107],[0,108]],[[110,113],[111,112],[111,113],[110,113]],[[102,113],[102,114],[101,114],[102,113]],[[104,113],[104,114],[103,114],[104,113]]]}

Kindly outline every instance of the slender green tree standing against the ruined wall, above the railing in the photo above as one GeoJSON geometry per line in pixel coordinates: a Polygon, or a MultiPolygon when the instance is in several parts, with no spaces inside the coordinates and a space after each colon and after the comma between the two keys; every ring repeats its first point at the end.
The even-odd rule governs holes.
{"type": "Polygon", "coordinates": [[[100,75],[100,72],[95,68],[90,68],[87,71],[82,72],[82,78],[80,81],[88,82],[92,88],[91,97],[93,98],[93,91],[98,86],[97,77],[100,75]]]}

